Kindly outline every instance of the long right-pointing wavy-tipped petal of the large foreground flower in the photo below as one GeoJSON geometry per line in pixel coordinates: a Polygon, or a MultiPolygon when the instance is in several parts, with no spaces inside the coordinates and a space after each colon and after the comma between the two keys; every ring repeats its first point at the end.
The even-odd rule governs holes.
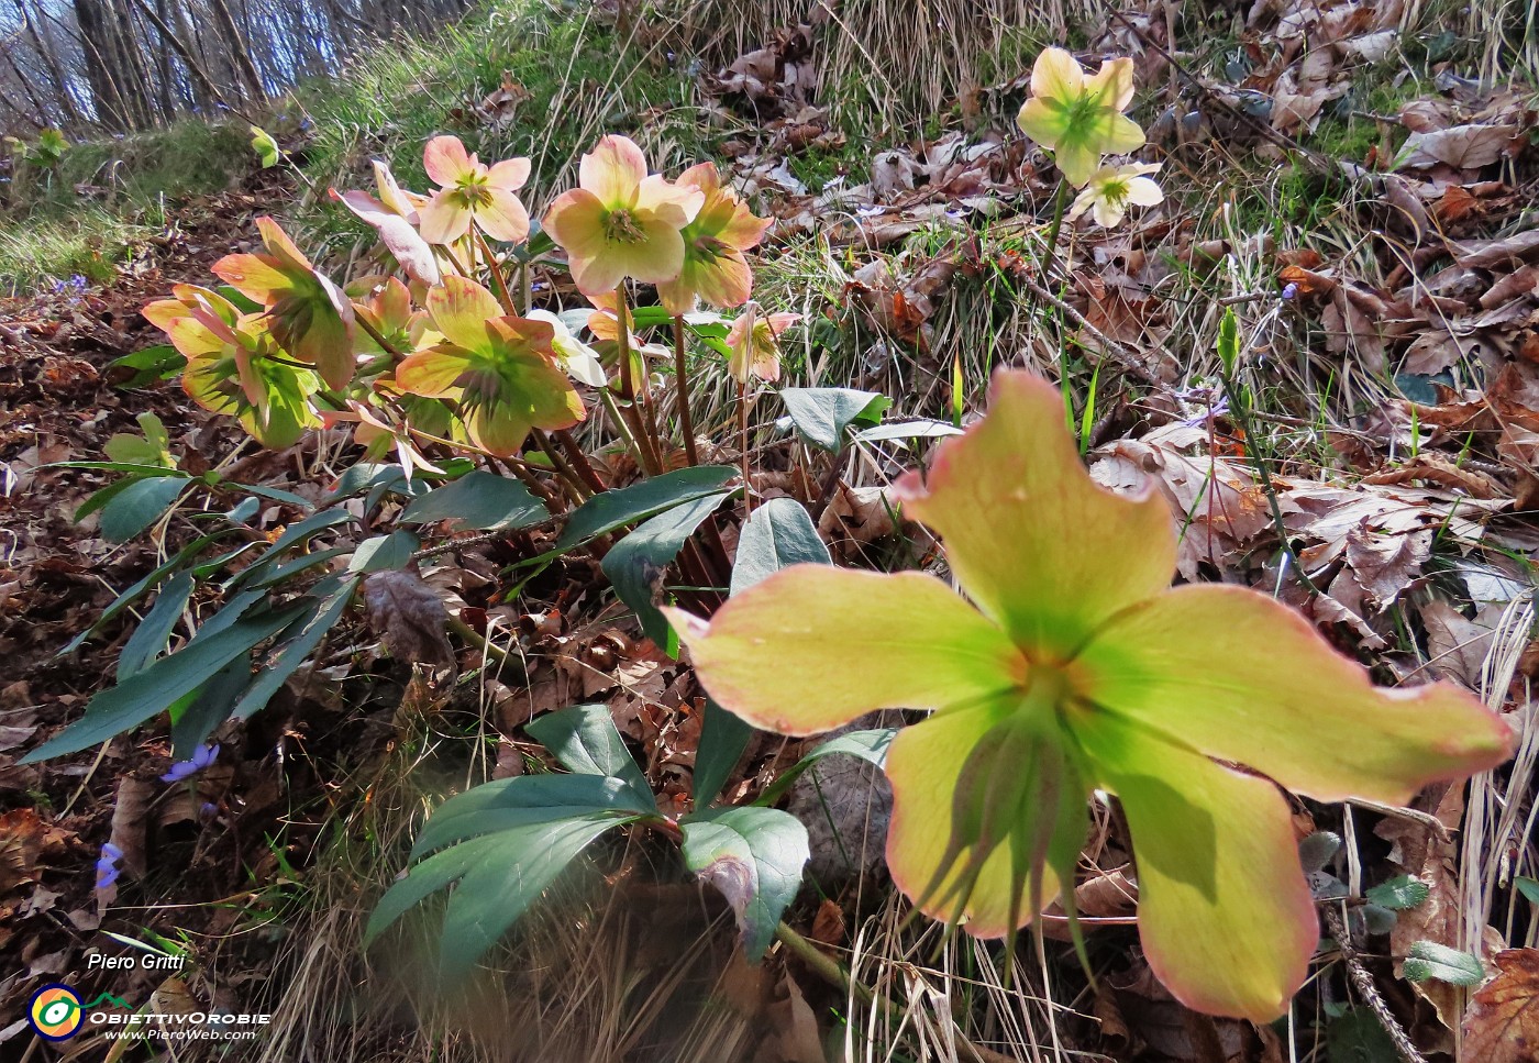
{"type": "Polygon", "coordinates": [[[1322,801],[1399,805],[1493,768],[1511,732],[1447,683],[1374,688],[1264,594],[1185,586],[1113,617],[1076,658],[1107,709],[1322,801]]]}

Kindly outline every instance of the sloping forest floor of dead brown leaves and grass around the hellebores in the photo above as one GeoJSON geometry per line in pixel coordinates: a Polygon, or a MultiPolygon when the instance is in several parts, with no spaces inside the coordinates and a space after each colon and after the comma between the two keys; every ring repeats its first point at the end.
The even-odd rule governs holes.
{"type": "MultiPolygon", "coordinates": [[[[1404,5],[1277,0],[1248,15],[1191,5],[1177,43],[1216,43],[1179,51],[1159,5],[1088,9],[1077,51],[1134,55],[1136,114],[1168,202],[1120,229],[1070,226],[1070,283],[1050,289],[1039,262],[1054,183],[1011,117],[1054,28],[905,48],[891,15],[803,28],[765,14],[696,40],[693,65],[663,58],[683,54],[677,28],[637,32],[620,72],[611,8],[551,5],[536,23],[472,23],[365,60],[331,98],[275,112],[282,166],[231,165],[229,188],[143,226],[126,263],[83,282],[43,280],[35,255],[6,271],[35,291],[0,302],[0,1054],[106,1055],[100,1040],[32,1038],[32,992],[71,981],[160,1012],[272,1012],[260,1049],[225,1058],[274,1063],[536,1058],[534,1045],[539,1058],[816,1063],[842,1058],[845,1037],[850,1058],[1391,1063],[1404,1051],[1390,1028],[1424,1058],[1533,1058],[1471,1025],[1471,1000],[1499,992],[1513,1029],[1539,1029],[1539,146],[1522,71],[1533,42],[1491,69],[1488,52],[1505,55],[1485,46],[1496,37],[1413,22],[1404,5]],[[946,48],[966,57],[968,86],[923,82],[946,48]],[[859,58],[871,51],[885,88],[857,100],[846,89],[876,83],[859,58]],[[429,583],[476,637],[457,643],[449,689],[391,660],[357,617],[269,709],[220,732],[215,765],[191,785],[160,781],[172,763],[162,725],[18,765],[112,683],[134,628],[112,620],[62,651],[195,537],[162,522],[109,541],[98,515],[74,514],[112,474],[58,463],[98,460],[154,414],[182,468],[269,492],[257,526],[271,540],[300,514],[271,492],[319,503],[359,458],[340,431],[260,451],[174,382],[135,378],[119,360],[163,338],[140,308],[171,285],[208,283],[212,262],[252,248],[262,214],[285,217],[339,274],[368,262],[369,242],[325,188],[368,185],[376,155],[420,188],[422,142],[440,129],[483,158],[534,157],[531,186],[546,197],[600,132],[634,135],[669,172],[717,160],[776,217],[754,258],[756,298],[803,314],[790,383],[879,392],[894,400],[890,418],[948,420],[980,411],[993,368],[1037,368],[1080,397],[1093,474],[1153,483],[1185,515],[1188,580],[1282,586],[1250,460],[1259,445],[1288,545],[1322,591],[1293,605],[1382,681],[1436,675],[1474,691],[1521,732],[1517,760],[1467,789],[1434,788],[1411,812],[1299,806],[1300,834],[1340,841],[1319,860],[1322,897],[1342,889],[1359,921],[1351,961],[1327,941],[1308,998],[1273,1026],[1196,1015],[1159,986],[1127,925],[1133,866],[1111,834],[1087,852],[1076,891],[1085,915],[1110,921],[1094,935],[1094,985],[1051,938],[1042,955],[1022,945],[1020,981],[1000,985],[982,946],[903,925],[879,869],[803,897],[788,921],[903,1001],[894,1015],[805,957],[743,965],[720,901],[645,838],[600,852],[531,915],[503,957],[517,977],[443,1001],[419,978],[420,957],[371,965],[363,921],[423,814],[537,765],[522,728],[537,715],[608,705],[663,808],[688,806],[693,674],[642,635],[593,555],[562,558],[509,600],[503,572],[548,546],[540,534],[477,537],[432,566],[429,583]],[[1225,308],[1240,320],[1264,438],[1227,417],[1225,308]],[[122,878],[97,889],[106,843],[123,854],[122,878]],[[1414,903],[1371,892],[1407,877],[1425,888],[1414,903]],[[1365,897],[1393,915],[1368,923],[1365,897]],[[169,977],[88,969],[91,951],[139,955],[126,941],[192,963],[169,977]],[[1408,978],[1405,958],[1425,941],[1471,957],[1477,977],[1408,978]]],[[[731,426],[731,395],[719,368],[703,374],[702,435],[731,426]]],[[[813,454],[776,431],[779,412],[770,395],[754,411],[759,492],[805,503],[840,563],[908,558],[913,529],[894,523],[885,489],[923,449],[813,454]]],[[[605,457],[606,471],[629,472],[605,457]]],[[[728,549],[739,520],[723,514],[728,549]]],[[[760,737],[728,800],[762,792],[805,748],[760,737]]],[[[149,1057],[120,1045],[112,1058],[149,1057]]],[[[185,1046],[174,1058],[217,1055],[185,1046]]]]}

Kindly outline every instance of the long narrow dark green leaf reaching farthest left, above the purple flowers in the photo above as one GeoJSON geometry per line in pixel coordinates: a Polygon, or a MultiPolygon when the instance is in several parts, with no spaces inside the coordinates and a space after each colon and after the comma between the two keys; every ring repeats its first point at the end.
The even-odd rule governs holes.
{"type": "Polygon", "coordinates": [[[60,754],[77,752],[137,728],[200,688],[240,654],[283,631],[300,612],[300,609],[266,612],[242,618],[208,638],[194,638],[169,657],[162,657],[145,671],[97,694],[86,705],[86,714],[80,720],[29,752],[22,763],[32,765],[60,754]]]}

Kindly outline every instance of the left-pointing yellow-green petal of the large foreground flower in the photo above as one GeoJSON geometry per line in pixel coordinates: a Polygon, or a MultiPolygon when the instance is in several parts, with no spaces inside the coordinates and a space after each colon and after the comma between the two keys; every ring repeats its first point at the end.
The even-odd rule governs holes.
{"type": "Polygon", "coordinates": [[[794,565],[716,611],[668,611],[723,708],[780,734],[830,731],[874,709],[988,700],[1025,663],[999,628],[933,575],[794,565]]]}

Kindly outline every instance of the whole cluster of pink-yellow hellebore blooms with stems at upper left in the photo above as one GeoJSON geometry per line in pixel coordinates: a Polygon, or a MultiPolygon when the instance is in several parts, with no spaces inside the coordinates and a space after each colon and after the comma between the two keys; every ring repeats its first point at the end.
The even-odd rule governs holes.
{"type": "Polygon", "coordinates": [[[580,186],[556,200],[545,225],[593,302],[596,342],[609,338],[619,348],[614,386],[599,351],[568,326],[571,317],[531,306],[528,271],[549,242],[545,251],[536,248],[517,195],[529,160],[486,165],[445,135],[428,142],[423,165],[439,186],[431,195],[400,188],[383,163],[374,163],[377,195],[332,191],[376,229],[403,277],[339,286],[277,222],[259,218],[262,249],[214,265],[229,288],[180,285],[171,298],[151,303],[146,317],[186,358],[186,392],[239,417],[272,448],[291,446],[311,428],[352,423],[371,458],[394,449],[408,475],[437,471],[423,443],[512,458],[528,474],[522,449],[534,438],[549,455],[545,434],[553,432],[565,457],[546,463],[542,455],[536,465],[565,478],[569,494],[586,497],[603,485],[565,435],[586,417],[577,385],[611,406],[614,391],[637,460],[651,472],[666,465],[657,418],[639,417],[646,375],[633,372],[629,355],[648,348],[629,328],[625,286],[634,278],[659,285],[673,318],[680,434],[696,463],[685,317],[702,298],[719,308],[748,300],[753,274],[743,252],[768,222],[754,217],[709,163],[677,182],[649,175],[640,148],[625,137],[605,137],[583,157],[580,186]],[[492,243],[519,249],[499,252],[492,243]],[[509,269],[523,283],[509,285],[509,269]],[[523,289],[522,302],[516,288],[523,289]],[[616,323],[608,332],[605,320],[616,323]]]}

